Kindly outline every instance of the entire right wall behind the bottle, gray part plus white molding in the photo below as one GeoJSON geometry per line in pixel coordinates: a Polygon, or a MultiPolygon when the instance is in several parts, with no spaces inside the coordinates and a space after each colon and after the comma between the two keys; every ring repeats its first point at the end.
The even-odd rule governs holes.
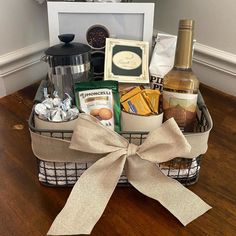
{"type": "Polygon", "coordinates": [[[193,69],[201,83],[236,96],[236,1],[156,0],[154,28],[177,34],[180,19],[195,20],[193,69]]]}

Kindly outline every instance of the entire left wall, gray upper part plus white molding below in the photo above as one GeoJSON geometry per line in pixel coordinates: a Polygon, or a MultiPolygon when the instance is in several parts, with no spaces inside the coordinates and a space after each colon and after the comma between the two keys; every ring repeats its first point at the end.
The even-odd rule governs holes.
{"type": "Polygon", "coordinates": [[[39,61],[48,46],[46,3],[0,0],[0,97],[46,75],[39,61]]]}

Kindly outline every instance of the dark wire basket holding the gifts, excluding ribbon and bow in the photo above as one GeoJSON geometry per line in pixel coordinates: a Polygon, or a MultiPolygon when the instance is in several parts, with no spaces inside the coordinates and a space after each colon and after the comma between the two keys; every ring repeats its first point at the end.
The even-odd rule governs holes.
{"type": "MultiPolygon", "coordinates": [[[[37,96],[36,96],[37,97],[37,96]]],[[[38,101],[37,98],[35,101],[38,101]]],[[[42,136],[53,137],[58,139],[70,140],[72,130],[50,130],[38,129],[35,127],[34,112],[32,111],[29,118],[29,128],[32,133],[37,133],[42,136]]],[[[202,99],[201,94],[198,96],[198,111],[195,125],[195,133],[209,132],[212,128],[212,121],[207,107],[202,99]]],[[[125,137],[129,142],[140,145],[146,139],[146,132],[120,132],[120,135],[125,137]]],[[[45,146],[50,148],[50,146],[45,146]]],[[[36,157],[38,164],[39,181],[47,186],[73,186],[83,172],[93,163],[79,162],[49,162],[36,157]]],[[[185,186],[192,185],[198,181],[202,155],[196,156],[193,159],[177,157],[171,161],[157,164],[163,174],[176,179],[185,186]]],[[[118,185],[128,186],[128,180],[123,171],[118,185]]]]}

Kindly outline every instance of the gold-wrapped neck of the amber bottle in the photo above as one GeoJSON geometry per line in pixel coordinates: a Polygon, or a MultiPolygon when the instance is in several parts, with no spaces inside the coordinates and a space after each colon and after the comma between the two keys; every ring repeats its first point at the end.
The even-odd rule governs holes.
{"type": "Polygon", "coordinates": [[[188,69],[192,67],[192,49],[192,28],[179,28],[174,63],[176,68],[188,69]]]}

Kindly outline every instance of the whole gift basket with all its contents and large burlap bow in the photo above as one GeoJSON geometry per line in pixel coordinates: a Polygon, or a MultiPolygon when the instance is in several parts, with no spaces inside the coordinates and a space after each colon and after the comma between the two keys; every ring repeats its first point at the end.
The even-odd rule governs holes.
{"type": "MultiPolygon", "coordinates": [[[[83,6],[103,11],[102,4],[83,6]]],[[[91,233],[117,184],[159,201],[184,226],[211,208],[184,187],[198,181],[213,125],[191,70],[194,21],[180,20],[178,40],[159,34],[153,43],[154,5],[139,4],[139,11],[145,6],[151,17],[142,16],[150,27],[143,35],[140,28],[124,34],[122,19],[119,24],[113,15],[119,27],[111,27],[105,14],[98,19],[109,30],[95,24],[83,40],[63,34],[55,45],[57,31],[50,29],[58,17],[51,19],[53,46],[42,58],[48,77],[29,118],[31,146],[40,183],[73,189],[49,235],[91,233]]]]}

